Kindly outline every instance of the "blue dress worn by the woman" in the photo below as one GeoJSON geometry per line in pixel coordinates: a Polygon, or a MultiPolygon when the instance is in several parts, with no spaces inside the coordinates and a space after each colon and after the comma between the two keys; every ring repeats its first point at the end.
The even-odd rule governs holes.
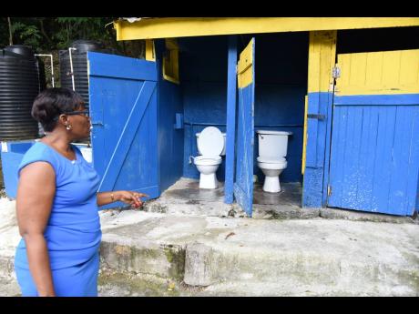
{"type": "MultiPolygon", "coordinates": [[[[80,150],[76,160],[36,142],[25,154],[20,170],[36,161],[46,161],[56,173],[56,195],[44,236],[56,296],[97,296],[99,245],[102,238],[97,207],[99,177],[80,150]]],[[[15,274],[23,296],[37,296],[29,271],[26,243],[21,238],[15,251],[15,274]]]]}

